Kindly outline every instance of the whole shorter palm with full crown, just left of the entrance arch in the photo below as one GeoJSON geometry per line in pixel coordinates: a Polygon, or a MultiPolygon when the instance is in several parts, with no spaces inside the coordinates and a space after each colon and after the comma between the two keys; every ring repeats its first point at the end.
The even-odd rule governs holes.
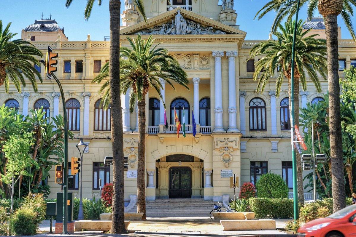
{"type": "MultiPolygon", "coordinates": [[[[138,159],[137,159],[137,212],[143,212],[142,219],[146,220],[146,186],[145,186],[145,135],[146,135],[146,94],[150,88],[155,88],[162,99],[160,79],[166,81],[173,88],[171,81],[188,88],[187,73],[180,68],[179,63],[165,48],[152,47],[155,39],[152,36],[142,39],[140,34],[136,39],[127,37],[131,49],[120,49],[120,92],[126,94],[130,90],[130,112],[138,107],[138,159]]],[[[111,72],[109,72],[110,75],[111,72]]],[[[93,82],[100,83],[108,76],[108,63],[101,69],[100,74],[93,82]]],[[[100,91],[108,87],[107,82],[101,86],[100,91]]],[[[108,106],[111,91],[104,94],[104,107],[108,106]]],[[[163,102],[164,104],[164,102],[163,102]]]]}

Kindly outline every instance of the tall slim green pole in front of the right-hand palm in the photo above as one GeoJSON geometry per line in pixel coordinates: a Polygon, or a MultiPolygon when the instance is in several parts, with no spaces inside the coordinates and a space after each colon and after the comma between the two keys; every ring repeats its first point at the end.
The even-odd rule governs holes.
{"type": "MultiPolygon", "coordinates": [[[[299,13],[299,4],[300,0],[297,3],[297,11],[295,12],[295,25],[293,33],[293,46],[292,46],[292,76],[290,78],[290,109],[292,110],[292,128],[290,129],[290,134],[292,136],[292,165],[293,165],[293,200],[294,200],[294,222],[299,218],[299,209],[298,209],[298,183],[297,183],[297,158],[295,156],[294,150],[294,68],[295,68],[295,35],[297,34],[297,23],[298,23],[298,13],[299,13]]],[[[297,98],[298,99],[298,98],[297,98]]]]}

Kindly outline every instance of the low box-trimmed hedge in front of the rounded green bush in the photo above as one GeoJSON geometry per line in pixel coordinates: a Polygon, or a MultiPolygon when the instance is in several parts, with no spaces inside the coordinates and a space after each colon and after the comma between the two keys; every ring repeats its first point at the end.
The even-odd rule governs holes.
{"type": "Polygon", "coordinates": [[[250,198],[250,209],[256,218],[293,218],[293,199],[250,198]]]}

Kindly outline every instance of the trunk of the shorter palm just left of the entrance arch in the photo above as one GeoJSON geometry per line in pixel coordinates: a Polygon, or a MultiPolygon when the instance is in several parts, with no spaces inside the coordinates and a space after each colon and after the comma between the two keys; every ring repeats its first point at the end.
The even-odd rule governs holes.
{"type": "Polygon", "coordinates": [[[137,212],[143,212],[146,220],[145,144],[146,144],[146,98],[137,102],[138,107],[138,159],[137,159],[137,212]]]}

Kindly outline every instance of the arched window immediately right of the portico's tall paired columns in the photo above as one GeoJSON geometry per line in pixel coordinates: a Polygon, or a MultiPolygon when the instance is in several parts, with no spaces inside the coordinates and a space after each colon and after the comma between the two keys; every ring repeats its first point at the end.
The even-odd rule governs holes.
{"type": "Polygon", "coordinates": [[[261,98],[250,101],[250,130],[266,130],[266,103],[261,98]]]}

